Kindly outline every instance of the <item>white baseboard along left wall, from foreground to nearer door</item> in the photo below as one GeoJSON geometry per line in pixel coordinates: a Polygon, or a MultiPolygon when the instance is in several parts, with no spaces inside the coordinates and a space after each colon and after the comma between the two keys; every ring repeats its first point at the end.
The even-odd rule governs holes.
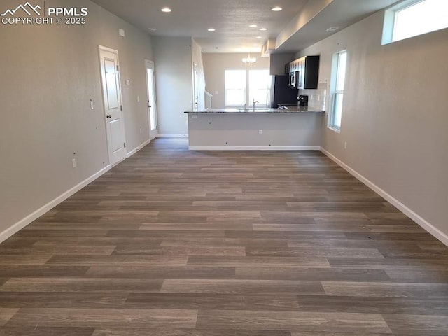
{"type": "Polygon", "coordinates": [[[29,225],[30,223],[32,223],[33,221],[36,221],[37,218],[41,217],[43,214],[46,214],[48,211],[50,211],[51,209],[53,209],[54,207],[57,206],[57,204],[61,203],[62,201],[66,200],[67,198],[69,198],[71,195],[77,193],[79,190],[81,190],[82,188],[84,188],[85,186],[87,186],[87,184],[91,183],[92,181],[96,180],[99,178],[99,176],[102,176],[104,173],[109,172],[109,170],[111,169],[111,165],[108,165],[106,167],[104,167],[102,170],[100,170],[99,172],[97,172],[96,174],[93,174],[92,176],[90,176],[89,178],[85,179],[84,181],[82,181],[81,183],[79,183],[78,185],[74,186],[73,188],[67,190],[65,193],[63,193],[62,195],[59,195],[58,197],[56,197],[54,200],[48,202],[47,204],[45,204],[43,207],[41,207],[40,209],[37,209],[36,211],[34,211],[32,214],[30,214],[29,216],[23,218],[22,220],[18,221],[17,223],[15,223],[14,225],[10,226],[9,228],[7,228],[6,230],[4,230],[3,232],[0,233],[0,243],[2,241],[5,241],[6,239],[8,239],[9,237],[11,237],[12,235],[14,235],[15,233],[19,232],[20,230],[22,230],[23,228],[25,228],[25,226],[29,225]]]}

